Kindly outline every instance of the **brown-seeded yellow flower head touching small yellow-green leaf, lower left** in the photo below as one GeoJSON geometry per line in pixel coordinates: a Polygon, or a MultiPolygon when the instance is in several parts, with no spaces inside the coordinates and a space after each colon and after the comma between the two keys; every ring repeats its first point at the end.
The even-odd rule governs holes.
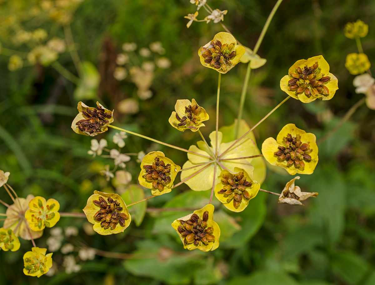
{"type": "Polygon", "coordinates": [[[124,200],[118,194],[94,191],[83,209],[94,231],[103,236],[122,233],[132,220],[124,200]]]}

